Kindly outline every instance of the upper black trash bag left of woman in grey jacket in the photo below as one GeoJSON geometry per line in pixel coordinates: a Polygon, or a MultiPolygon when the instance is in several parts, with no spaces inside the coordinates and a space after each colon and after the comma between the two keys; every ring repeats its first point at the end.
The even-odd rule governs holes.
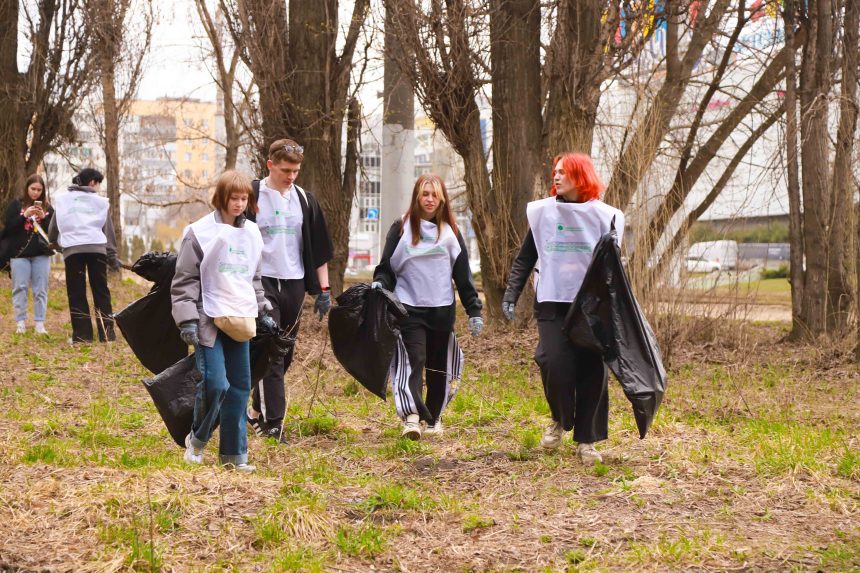
{"type": "Polygon", "coordinates": [[[116,313],[114,319],[140,363],[158,374],[188,354],[171,315],[170,283],[176,271],[176,254],[150,252],[132,266],[141,277],[154,281],[149,293],[116,313]]]}

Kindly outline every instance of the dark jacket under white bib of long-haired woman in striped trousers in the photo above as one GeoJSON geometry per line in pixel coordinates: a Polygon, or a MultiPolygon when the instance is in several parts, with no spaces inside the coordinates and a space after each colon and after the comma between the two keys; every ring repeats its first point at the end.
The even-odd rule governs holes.
{"type": "MultiPolygon", "coordinates": [[[[379,265],[373,271],[373,280],[382,283],[382,287],[390,291],[393,291],[397,285],[397,277],[391,269],[391,255],[394,254],[394,250],[400,242],[402,226],[400,219],[391,225],[388,235],[385,237],[385,247],[382,249],[379,265]]],[[[454,285],[457,287],[457,293],[460,295],[460,302],[466,309],[466,314],[470,317],[481,316],[483,305],[481,299],[478,298],[475,283],[472,281],[472,269],[469,268],[469,250],[466,248],[466,243],[459,231],[457,232],[457,241],[460,243],[460,254],[454,261],[451,278],[454,279],[454,285]]],[[[409,306],[408,304],[403,306],[411,319],[418,320],[431,330],[452,330],[456,318],[455,305],[456,301],[448,306],[438,307],[409,306]]]]}

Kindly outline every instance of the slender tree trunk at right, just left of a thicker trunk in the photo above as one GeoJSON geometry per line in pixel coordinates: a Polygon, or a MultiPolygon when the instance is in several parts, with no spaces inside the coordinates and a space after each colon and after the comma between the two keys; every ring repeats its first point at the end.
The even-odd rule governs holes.
{"type": "MultiPolygon", "coordinates": [[[[785,22],[785,42],[793,44],[795,37],[796,0],[785,0],[783,19],[785,22]]],[[[803,215],[800,203],[800,165],[797,157],[797,64],[796,56],[785,65],[785,149],[786,171],[788,176],[788,234],[791,248],[789,283],[791,284],[791,337],[801,335],[800,311],[803,305],[804,247],[803,215]]]]}

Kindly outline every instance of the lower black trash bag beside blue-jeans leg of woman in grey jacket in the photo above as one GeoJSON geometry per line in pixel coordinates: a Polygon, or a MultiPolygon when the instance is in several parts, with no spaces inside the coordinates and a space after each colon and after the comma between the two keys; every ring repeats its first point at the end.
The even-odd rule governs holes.
{"type": "Polygon", "coordinates": [[[183,448],[185,436],[191,431],[194,421],[197,384],[203,379],[194,360],[195,356],[191,354],[157,376],[143,381],[167,431],[173,441],[183,448]]]}

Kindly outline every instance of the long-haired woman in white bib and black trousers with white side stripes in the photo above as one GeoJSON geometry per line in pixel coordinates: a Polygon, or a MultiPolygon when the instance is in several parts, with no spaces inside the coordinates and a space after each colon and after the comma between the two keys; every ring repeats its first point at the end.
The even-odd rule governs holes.
{"type": "Polygon", "coordinates": [[[409,211],[391,225],[373,281],[373,288],[394,291],[409,313],[400,324],[392,364],[401,435],[418,440],[422,433],[441,434],[442,411],[456,390],[463,365],[454,336],[454,284],[469,315],[472,336],[481,333],[484,323],[468,250],[438,175],[422,175],[415,182],[409,211]]]}

